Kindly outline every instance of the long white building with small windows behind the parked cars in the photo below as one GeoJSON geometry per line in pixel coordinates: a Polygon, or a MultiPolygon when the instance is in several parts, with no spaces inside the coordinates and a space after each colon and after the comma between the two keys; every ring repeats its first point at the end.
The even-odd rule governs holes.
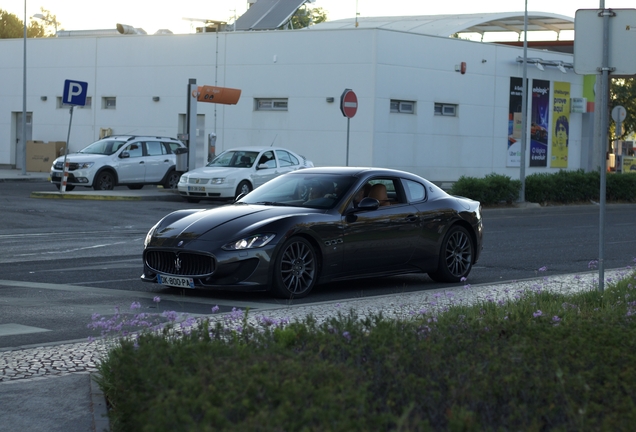
{"type": "MultiPolygon", "coordinates": [[[[573,28],[572,19],[534,15],[573,28]]],[[[436,182],[493,172],[518,178],[508,137],[511,78],[523,75],[523,50],[448,35],[519,17],[523,22],[523,14],[508,13],[341,20],[285,31],[28,39],[26,139],[66,141],[67,79],[87,82],[90,102],[74,109],[71,151],[105,131],[176,137],[187,131],[188,82],[196,79],[242,91],[236,105],[197,104],[196,166],[207,159],[215,134],[216,153],[275,144],[319,166],[348,159],[349,165],[403,169],[436,182]],[[340,110],[344,89],[358,98],[349,140],[340,110]]],[[[16,168],[22,163],[23,49],[22,39],[0,40],[0,165],[16,168]]],[[[547,163],[526,174],[555,172],[553,84],[569,83],[569,96],[580,98],[583,77],[571,70],[571,54],[528,49],[527,57],[548,65],[529,64],[527,77],[531,84],[550,83],[550,102],[547,163]],[[566,73],[552,67],[562,64],[566,73]]],[[[529,93],[529,113],[531,99],[529,93]]],[[[569,114],[567,169],[589,164],[591,138],[582,132],[589,122],[589,114],[569,114]]],[[[527,127],[534,133],[530,121],[527,127]]],[[[526,161],[533,151],[528,136],[526,161]]]]}

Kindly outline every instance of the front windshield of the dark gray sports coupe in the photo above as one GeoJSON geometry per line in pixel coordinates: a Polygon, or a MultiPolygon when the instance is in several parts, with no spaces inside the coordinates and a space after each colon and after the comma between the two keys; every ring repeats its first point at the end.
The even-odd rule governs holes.
{"type": "Polygon", "coordinates": [[[350,195],[355,177],[294,172],[268,181],[238,202],[315,209],[334,208],[350,195]]]}

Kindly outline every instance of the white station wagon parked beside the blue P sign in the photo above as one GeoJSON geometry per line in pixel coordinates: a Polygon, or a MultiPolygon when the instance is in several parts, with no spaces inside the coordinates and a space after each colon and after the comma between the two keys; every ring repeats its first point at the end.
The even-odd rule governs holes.
{"type": "MultiPolygon", "coordinates": [[[[120,135],[95,141],[77,153],[66,156],[66,190],[76,186],[111,190],[115,186],[141,189],[144,185],[163,185],[174,189],[181,172],[176,170],[177,154],[187,157],[179,140],[156,136],[120,135]]],[[[58,189],[64,169],[64,156],[51,166],[51,183],[58,189]]]]}

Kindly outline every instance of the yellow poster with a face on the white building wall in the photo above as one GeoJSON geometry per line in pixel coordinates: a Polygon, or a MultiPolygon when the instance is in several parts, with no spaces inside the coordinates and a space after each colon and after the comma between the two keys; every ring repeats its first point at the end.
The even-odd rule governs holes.
{"type": "Polygon", "coordinates": [[[550,168],[567,168],[570,133],[570,83],[555,82],[552,99],[550,168]]]}

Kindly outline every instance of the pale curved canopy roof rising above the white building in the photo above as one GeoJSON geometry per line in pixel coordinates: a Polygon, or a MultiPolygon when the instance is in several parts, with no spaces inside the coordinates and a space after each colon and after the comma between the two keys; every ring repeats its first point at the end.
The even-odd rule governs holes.
{"type": "MultiPolygon", "coordinates": [[[[465,15],[418,15],[399,17],[360,17],[327,21],[313,28],[381,28],[432,36],[452,36],[456,33],[515,32],[523,33],[523,12],[480,13],[465,15]]],[[[574,30],[574,18],[545,12],[528,12],[528,32],[574,30]]]]}

